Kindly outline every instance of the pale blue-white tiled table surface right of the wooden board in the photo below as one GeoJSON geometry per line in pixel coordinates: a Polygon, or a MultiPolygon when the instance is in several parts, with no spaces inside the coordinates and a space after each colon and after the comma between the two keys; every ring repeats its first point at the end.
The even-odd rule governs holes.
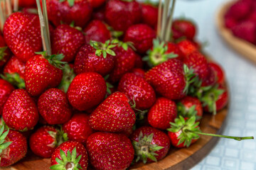
{"type": "MultiPolygon", "coordinates": [[[[178,0],[175,17],[191,18],[198,25],[198,40],[225,69],[230,85],[230,113],[223,134],[256,137],[256,65],[236,54],[218,35],[215,16],[228,0],[178,0]]],[[[256,57],[256,56],[255,56],[256,57]]],[[[256,141],[220,139],[193,170],[256,169],[256,141]]]]}

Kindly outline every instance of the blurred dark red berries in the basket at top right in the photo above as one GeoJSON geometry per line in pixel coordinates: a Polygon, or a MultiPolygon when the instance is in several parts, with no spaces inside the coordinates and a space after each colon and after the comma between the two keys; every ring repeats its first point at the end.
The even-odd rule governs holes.
{"type": "Polygon", "coordinates": [[[225,13],[224,20],[233,35],[256,45],[256,1],[235,1],[225,13]]]}

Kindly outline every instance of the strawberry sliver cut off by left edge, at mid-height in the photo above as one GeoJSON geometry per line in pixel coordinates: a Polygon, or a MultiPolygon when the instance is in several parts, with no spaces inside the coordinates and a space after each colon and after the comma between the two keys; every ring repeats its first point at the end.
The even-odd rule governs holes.
{"type": "Polygon", "coordinates": [[[14,91],[14,86],[4,79],[0,79],[0,115],[3,113],[4,103],[6,103],[12,91],[14,91]]]}

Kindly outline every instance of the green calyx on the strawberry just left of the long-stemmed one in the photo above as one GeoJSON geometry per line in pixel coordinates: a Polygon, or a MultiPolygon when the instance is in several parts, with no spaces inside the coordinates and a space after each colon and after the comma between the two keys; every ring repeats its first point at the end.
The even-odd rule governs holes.
{"type": "Polygon", "coordinates": [[[139,133],[139,142],[133,141],[132,145],[134,146],[135,155],[137,155],[136,162],[142,160],[144,164],[146,164],[147,159],[151,159],[154,162],[157,162],[156,151],[163,149],[164,147],[160,147],[156,144],[151,144],[154,137],[154,133],[151,133],[149,136],[143,135],[142,132],[139,133]]]}

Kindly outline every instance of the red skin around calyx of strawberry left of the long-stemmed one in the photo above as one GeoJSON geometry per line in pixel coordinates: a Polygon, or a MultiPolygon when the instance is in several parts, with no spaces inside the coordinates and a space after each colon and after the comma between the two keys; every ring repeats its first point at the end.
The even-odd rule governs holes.
{"type": "MultiPolygon", "coordinates": [[[[151,133],[154,134],[153,140],[151,142],[152,145],[158,145],[159,147],[164,147],[160,149],[159,151],[156,151],[156,160],[163,159],[166,154],[169,152],[170,149],[170,140],[168,135],[166,135],[161,130],[157,130],[155,128],[151,128],[149,126],[143,126],[141,128],[138,128],[137,130],[134,130],[131,136],[132,141],[139,141],[139,133],[142,132],[143,136],[149,136],[151,133]]],[[[153,162],[151,159],[147,159],[146,162],[153,162]]]]}

